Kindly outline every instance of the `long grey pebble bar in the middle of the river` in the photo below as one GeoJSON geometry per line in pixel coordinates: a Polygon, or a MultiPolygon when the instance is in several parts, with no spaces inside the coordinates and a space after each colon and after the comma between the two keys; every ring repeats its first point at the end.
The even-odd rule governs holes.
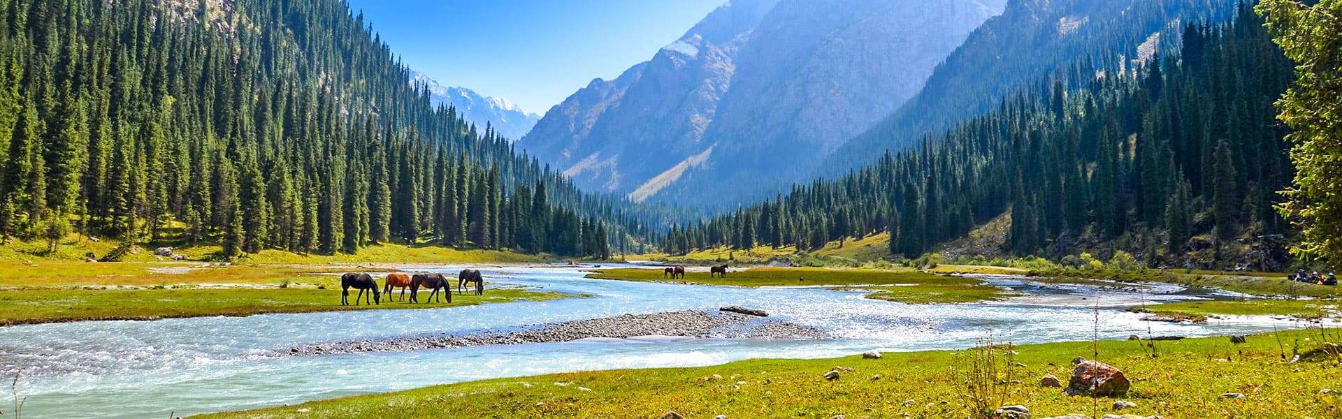
{"type": "Polygon", "coordinates": [[[676,336],[696,338],[829,338],[828,334],[815,328],[801,326],[786,321],[769,321],[754,316],[726,312],[706,313],[698,310],[682,310],[654,314],[621,314],[593,320],[527,325],[509,332],[411,336],[298,345],[290,348],[287,355],[318,356],[362,352],[408,352],[439,348],[566,342],[596,337],[628,338],[635,336],[676,336]]]}

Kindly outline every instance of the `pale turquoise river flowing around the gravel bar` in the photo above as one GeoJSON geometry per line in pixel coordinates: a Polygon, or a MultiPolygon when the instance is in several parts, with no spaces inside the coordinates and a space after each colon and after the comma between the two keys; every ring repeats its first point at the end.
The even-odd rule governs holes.
{"type": "MultiPolygon", "coordinates": [[[[443,270],[448,271],[448,270],[443,270]]],[[[817,287],[705,287],[582,278],[572,267],[486,270],[513,283],[593,298],[420,310],[362,310],[160,321],[93,321],[0,328],[0,373],[23,377],[24,418],[166,418],[302,403],[433,384],[552,372],[713,365],[753,357],[836,357],[879,351],[972,346],[992,332],[1017,344],[1209,336],[1268,325],[1139,321],[1125,306],[1206,298],[1180,286],[1142,293],[1047,286],[1013,277],[985,279],[1031,297],[973,305],[905,305],[817,287]],[[1084,299],[1082,299],[1084,298],[1084,299]],[[295,344],[468,333],[624,313],[742,305],[770,318],[815,326],[833,340],[589,340],[287,357],[295,344]],[[1099,321],[1095,321],[1095,313],[1099,321]],[[1149,330],[1150,328],[1150,330],[1149,330]]],[[[331,302],[338,301],[331,291],[331,302]]],[[[8,398],[0,398],[8,402],[8,398]]]]}

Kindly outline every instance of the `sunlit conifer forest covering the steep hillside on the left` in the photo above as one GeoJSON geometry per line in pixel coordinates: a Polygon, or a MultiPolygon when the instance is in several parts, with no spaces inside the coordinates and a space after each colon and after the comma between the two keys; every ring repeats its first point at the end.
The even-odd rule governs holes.
{"type": "Polygon", "coordinates": [[[0,11],[5,242],[72,228],[122,248],[219,242],[223,258],[389,240],[605,255],[608,235],[646,234],[623,203],[431,106],[344,1],[0,11]]]}

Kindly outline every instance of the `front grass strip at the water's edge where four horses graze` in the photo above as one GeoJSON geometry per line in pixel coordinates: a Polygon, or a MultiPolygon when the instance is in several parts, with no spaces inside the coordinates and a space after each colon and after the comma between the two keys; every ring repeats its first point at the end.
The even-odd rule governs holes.
{"type": "MultiPolygon", "coordinates": [[[[170,317],[251,316],[368,309],[427,309],[447,304],[391,301],[380,305],[342,306],[338,287],[264,289],[25,289],[0,291],[0,326],[85,320],[157,320],[170,317]]],[[[358,295],[350,291],[350,304],[358,295]]],[[[366,295],[366,294],[365,294],[366,295]]],[[[488,290],[480,295],[452,295],[451,306],[488,302],[545,301],[573,297],[562,293],[517,289],[488,290]]],[[[409,297],[407,295],[407,299],[409,297]]],[[[424,297],[421,294],[421,301],[424,297]]]]}

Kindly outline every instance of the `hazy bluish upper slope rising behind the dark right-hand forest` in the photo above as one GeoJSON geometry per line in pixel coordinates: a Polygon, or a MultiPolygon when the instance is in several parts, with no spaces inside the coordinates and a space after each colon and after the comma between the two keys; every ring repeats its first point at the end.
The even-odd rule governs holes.
{"type": "Polygon", "coordinates": [[[937,67],[917,97],[848,141],[820,165],[820,173],[841,175],[887,149],[907,148],[925,132],[992,110],[1009,91],[1083,58],[1102,68],[1131,67],[1133,60],[1177,46],[1182,23],[1224,21],[1237,1],[1012,0],[937,67]]]}

